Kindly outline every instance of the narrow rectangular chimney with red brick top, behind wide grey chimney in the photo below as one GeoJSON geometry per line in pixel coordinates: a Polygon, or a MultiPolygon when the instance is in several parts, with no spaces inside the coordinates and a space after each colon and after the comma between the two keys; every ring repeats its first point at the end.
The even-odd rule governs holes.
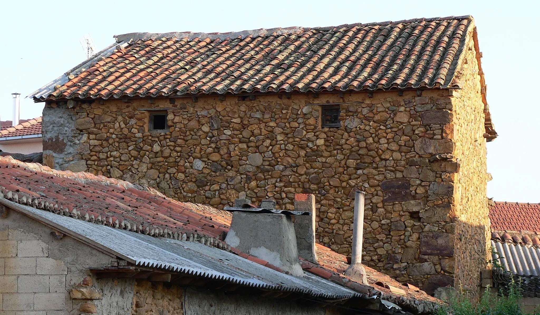
{"type": "Polygon", "coordinates": [[[294,210],[310,213],[309,216],[294,217],[298,255],[309,262],[319,264],[315,253],[315,196],[311,193],[295,193],[294,210]]]}

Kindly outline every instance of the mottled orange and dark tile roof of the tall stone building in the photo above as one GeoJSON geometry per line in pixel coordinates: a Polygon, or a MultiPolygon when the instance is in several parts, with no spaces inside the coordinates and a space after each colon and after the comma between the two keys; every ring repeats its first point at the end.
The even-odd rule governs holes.
{"type": "Polygon", "coordinates": [[[473,18],[130,33],[40,99],[451,88],[473,18]]]}

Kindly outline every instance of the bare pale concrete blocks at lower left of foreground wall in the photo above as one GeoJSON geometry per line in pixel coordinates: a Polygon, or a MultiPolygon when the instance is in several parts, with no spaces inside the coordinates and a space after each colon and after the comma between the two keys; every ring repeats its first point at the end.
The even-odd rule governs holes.
{"type": "Polygon", "coordinates": [[[1,228],[0,314],[56,315],[68,309],[68,266],[50,258],[49,244],[36,234],[1,228]]]}

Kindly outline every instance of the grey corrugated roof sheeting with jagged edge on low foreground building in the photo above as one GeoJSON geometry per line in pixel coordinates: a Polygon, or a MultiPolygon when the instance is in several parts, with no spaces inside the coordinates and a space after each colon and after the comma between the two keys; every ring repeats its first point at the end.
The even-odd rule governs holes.
{"type": "MultiPolygon", "coordinates": [[[[3,200],[4,202],[10,203],[6,199],[3,200]]],[[[56,227],[72,237],[98,246],[106,252],[139,266],[227,280],[270,290],[304,293],[326,299],[362,296],[361,293],[309,273],[304,273],[303,277],[291,276],[251,262],[231,252],[200,243],[151,237],[59,216],[26,205],[18,206],[26,215],[40,222],[56,227]]]]}

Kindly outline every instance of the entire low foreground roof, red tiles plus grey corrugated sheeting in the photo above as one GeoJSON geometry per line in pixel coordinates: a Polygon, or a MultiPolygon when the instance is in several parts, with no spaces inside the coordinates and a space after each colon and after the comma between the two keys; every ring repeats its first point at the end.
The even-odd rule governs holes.
{"type": "Polygon", "coordinates": [[[318,254],[324,263],[302,260],[307,276],[290,276],[221,242],[230,213],[181,203],[150,187],[3,157],[0,175],[0,203],[83,243],[99,244],[104,251],[136,266],[313,298],[357,297],[386,305],[383,310],[396,310],[394,303],[409,312],[427,313],[437,301],[367,267],[370,281],[377,284],[356,283],[338,272],[346,267],[345,257],[321,246],[317,246],[318,254]]]}

